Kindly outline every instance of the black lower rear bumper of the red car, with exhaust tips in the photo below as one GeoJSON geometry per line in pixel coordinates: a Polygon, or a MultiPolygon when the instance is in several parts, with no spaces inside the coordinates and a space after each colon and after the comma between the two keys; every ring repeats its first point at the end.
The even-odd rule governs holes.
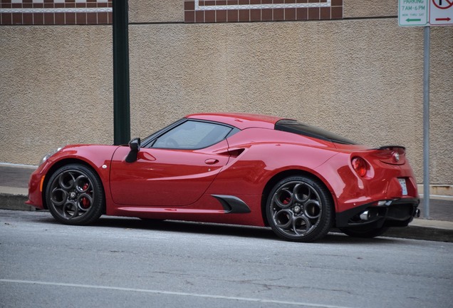
{"type": "Polygon", "coordinates": [[[419,198],[382,200],[337,212],[336,227],[405,227],[420,215],[419,198]]]}

